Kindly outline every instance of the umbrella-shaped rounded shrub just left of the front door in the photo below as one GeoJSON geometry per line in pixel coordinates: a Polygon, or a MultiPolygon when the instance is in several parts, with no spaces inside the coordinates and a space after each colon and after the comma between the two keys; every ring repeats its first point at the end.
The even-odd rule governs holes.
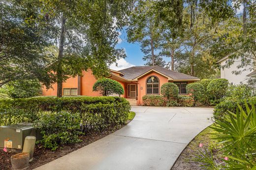
{"type": "Polygon", "coordinates": [[[124,94],[123,86],[115,80],[102,78],[96,81],[93,91],[99,91],[103,96],[111,94],[124,94]]]}

